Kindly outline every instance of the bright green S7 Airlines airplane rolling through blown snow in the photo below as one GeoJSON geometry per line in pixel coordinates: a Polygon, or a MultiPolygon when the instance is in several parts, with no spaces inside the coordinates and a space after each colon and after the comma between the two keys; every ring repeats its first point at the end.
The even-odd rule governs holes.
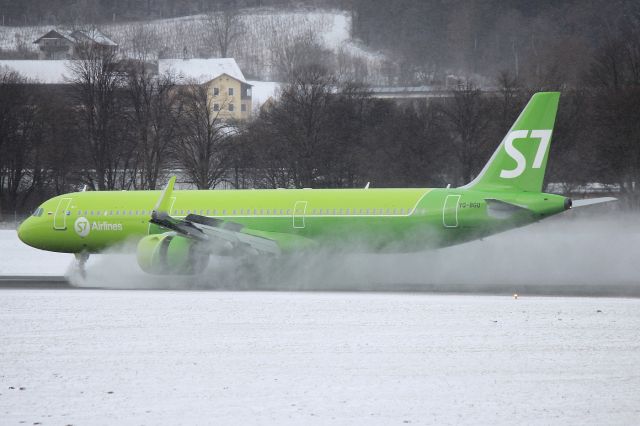
{"type": "Polygon", "coordinates": [[[485,167],[458,188],[94,191],[45,201],[18,229],[24,243],[92,253],[137,242],[150,274],[204,271],[211,255],[278,256],[322,246],[419,251],[484,238],[570,208],[615,201],[542,192],[560,93],[534,94],[485,167]]]}

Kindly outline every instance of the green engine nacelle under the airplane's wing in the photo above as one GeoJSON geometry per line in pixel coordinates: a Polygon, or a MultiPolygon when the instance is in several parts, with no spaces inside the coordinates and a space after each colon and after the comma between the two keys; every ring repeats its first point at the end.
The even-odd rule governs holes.
{"type": "Polygon", "coordinates": [[[209,263],[209,251],[174,233],[154,234],[138,243],[138,265],[148,274],[196,275],[209,263]]]}

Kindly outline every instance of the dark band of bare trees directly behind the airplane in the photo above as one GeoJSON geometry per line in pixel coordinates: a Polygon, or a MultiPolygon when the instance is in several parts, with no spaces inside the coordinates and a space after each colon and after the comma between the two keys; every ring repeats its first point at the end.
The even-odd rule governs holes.
{"type": "MultiPolygon", "coordinates": [[[[640,32],[620,27],[563,92],[547,182],[611,185],[638,207],[640,32]]],[[[248,123],[221,120],[207,87],[87,47],[68,85],[0,72],[0,211],[93,190],[452,186],[471,180],[530,95],[510,72],[439,99],[378,99],[317,63],[290,70],[248,123]],[[180,83],[180,84],[179,84],[180,83]]]]}

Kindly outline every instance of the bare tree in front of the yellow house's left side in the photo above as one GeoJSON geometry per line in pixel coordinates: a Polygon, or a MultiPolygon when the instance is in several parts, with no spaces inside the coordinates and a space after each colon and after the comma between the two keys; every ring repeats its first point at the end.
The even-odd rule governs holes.
{"type": "Polygon", "coordinates": [[[221,117],[227,105],[218,104],[215,111],[207,86],[195,83],[183,88],[181,98],[184,113],[175,146],[177,165],[198,189],[215,188],[232,162],[229,144],[235,127],[221,117]]]}

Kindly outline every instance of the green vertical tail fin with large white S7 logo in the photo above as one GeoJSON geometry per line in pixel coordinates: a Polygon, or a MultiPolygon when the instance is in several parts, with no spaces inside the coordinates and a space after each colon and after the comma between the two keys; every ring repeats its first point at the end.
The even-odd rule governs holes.
{"type": "Polygon", "coordinates": [[[559,92],[531,97],[480,174],[463,188],[541,192],[559,92]]]}

